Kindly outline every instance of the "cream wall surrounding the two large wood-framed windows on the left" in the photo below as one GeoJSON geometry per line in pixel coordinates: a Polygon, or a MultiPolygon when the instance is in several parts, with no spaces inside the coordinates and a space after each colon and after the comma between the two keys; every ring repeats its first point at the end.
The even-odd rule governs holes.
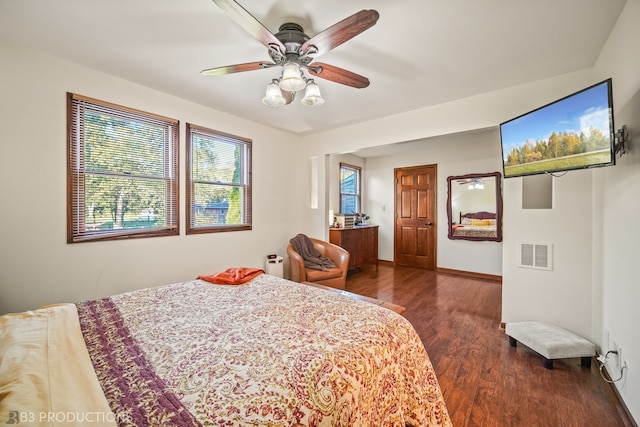
{"type": "MultiPolygon", "coordinates": [[[[304,228],[292,135],[14,46],[0,45],[0,63],[0,313],[264,267],[304,228]],[[182,204],[180,236],[67,244],[66,92],[179,119],[180,159],[186,122],[252,139],[253,230],[186,236],[182,204]]],[[[181,200],[184,173],[181,162],[181,200]]]]}

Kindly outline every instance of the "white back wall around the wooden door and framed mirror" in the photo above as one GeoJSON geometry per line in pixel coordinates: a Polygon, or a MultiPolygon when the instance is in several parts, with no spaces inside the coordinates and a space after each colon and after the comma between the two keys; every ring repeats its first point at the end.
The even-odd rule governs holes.
{"type": "Polygon", "coordinates": [[[501,171],[497,128],[428,138],[417,145],[396,155],[367,159],[367,205],[371,222],[380,225],[380,259],[393,261],[394,168],[437,164],[437,266],[501,275],[502,243],[449,240],[446,205],[448,176],[501,171]]]}

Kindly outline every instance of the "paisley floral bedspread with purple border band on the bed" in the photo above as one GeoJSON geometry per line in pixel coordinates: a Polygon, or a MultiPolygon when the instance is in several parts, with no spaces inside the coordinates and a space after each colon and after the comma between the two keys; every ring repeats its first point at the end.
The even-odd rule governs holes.
{"type": "Polygon", "coordinates": [[[138,290],[78,311],[127,425],[451,425],[411,324],[339,293],[262,274],[138,290]]]}

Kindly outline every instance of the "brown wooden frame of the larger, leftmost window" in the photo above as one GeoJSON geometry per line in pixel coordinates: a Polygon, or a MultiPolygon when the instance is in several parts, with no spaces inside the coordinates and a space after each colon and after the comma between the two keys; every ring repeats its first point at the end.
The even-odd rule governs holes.
{"type": "MultiPolygon", "coordinates": [[[[179,169],[179,129],[180,122],[173,118],[160,116],[110,102],[67,92],[67,243],[82,243],[105,240],[123,240],[145,237],[176,236],[180,234],[180,169],[179,169]],[[88,174],[84,165],[84,121],[76,111],[81,105],[103,110],[116,116],[126,116],[144,123],[160,124],[165,127],[165,149],[163,156],[164,177],[145,177],[162,180],[166,189],[165,225],[153,228],[132,228],[117,230],[90,230],[86,224],[85,177],[88,174]]],[[[96,173],[93,173],[96,175],[96,173]]],[[[113,177],[130,176],[126,173],[110,174],[113,177]]]]}

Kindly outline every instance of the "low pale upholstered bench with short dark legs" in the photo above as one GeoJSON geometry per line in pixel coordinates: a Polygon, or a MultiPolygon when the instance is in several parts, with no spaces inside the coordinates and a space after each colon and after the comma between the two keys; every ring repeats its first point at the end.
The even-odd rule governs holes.
{"type": "Polygon", "coordinates": [[[591,367],[591,358],[596,354],[596,346],[565,329],[539,322],[507,323],[505,332],[509,344],[520,343],[543,357],[544,367],[553,368],[554,359],[580,357],[582,366],[591,367]]]}

